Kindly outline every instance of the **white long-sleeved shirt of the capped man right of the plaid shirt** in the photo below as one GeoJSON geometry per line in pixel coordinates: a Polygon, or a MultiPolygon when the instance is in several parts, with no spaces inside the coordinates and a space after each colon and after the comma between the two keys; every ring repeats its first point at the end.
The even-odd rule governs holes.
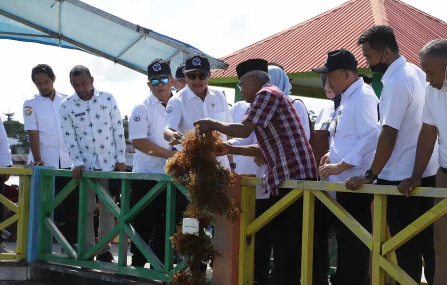
{"type": "Polygon", "coordinates": [[[379,138],[378,102],[374,90],[363,82],[363,78],[341,95],[330,145],[330,161],[343,161],[354,167],[329,176],[329,181],[344,183],[353,176],[364,175],[371,167],[379,138]]]}

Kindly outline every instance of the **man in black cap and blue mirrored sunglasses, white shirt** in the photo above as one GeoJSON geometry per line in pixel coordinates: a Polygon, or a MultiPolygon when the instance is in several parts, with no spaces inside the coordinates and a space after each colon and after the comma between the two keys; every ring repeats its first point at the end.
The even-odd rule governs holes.
{"type": "MultiPolygon", "coordinates": [[[[129,119],[129,141],[135,147],[133,172],[165,173],[166,160],[174,155],[163,138],[165,109],[172,96],[174,79],[169,64],[160,58],[147,66],[147,77],[151,92],[143,102],[137,104],[129,119]]],[[[135,205],[158,183],[158,181],[134,180],[131,203],[135,205]]],[[[181,199],[179,197],[178,199],[181,199]]],[[[177,203],[180,208],[181,204],[177,203]]],[[[151,248],[163,262],[165,249],[166,192],[158,195],[133,221],[134,228],[145,242],[151,240],[151,248]]],[[[131,244],[132,266],[143,267],[147,262],[137,246],[131,244]]]]}

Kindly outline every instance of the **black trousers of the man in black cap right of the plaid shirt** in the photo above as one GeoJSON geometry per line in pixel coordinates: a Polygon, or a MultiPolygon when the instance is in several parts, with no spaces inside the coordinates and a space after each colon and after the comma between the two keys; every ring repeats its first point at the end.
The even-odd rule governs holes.
{"type": "MultiPolygon", "coordinates": [[[[337,202],[367,231],[371,232],[372,195],[337,192],[337,202]]],[[[369,285],[369,249],[340,220],[336,219],[337,260],[334,285],[369,285]]]]}

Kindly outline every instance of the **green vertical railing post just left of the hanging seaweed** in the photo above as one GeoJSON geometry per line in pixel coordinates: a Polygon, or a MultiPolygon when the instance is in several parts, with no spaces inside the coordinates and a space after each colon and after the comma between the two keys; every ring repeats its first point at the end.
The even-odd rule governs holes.
{"type": "Polygon", "coordinates": [[[166,189],[166,227],[165,227],[165,272],[174,267],[174,248],[172,247],[170,237],[175,231],[175,204],[177,199],[177,191],[172,187],[172,183],[168,182],[166,189]]]}

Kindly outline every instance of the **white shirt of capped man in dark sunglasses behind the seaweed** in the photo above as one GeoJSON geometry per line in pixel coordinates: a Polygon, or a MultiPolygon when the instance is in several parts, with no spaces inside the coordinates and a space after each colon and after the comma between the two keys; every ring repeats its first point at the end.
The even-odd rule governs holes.
{"type": "MultiPolygon", "coordinates": [[[[212,118],[221,122],[232,123],[228,102],[221,91],[207,87],[205,100],[202,101],[188,85],[177,92],[168,101],[165,113],[165,128],[174,129],[184,134],[188,130],[194,129],[194,122],[212,118]]],[[[223,135],[223,140],[226,136],[223,135]]],[[[180,150],[180,145],[175,146],[180,150]]],[[[229,162],[226,156],[218,157],[223,167],[229,169],[229,162]]]]}

